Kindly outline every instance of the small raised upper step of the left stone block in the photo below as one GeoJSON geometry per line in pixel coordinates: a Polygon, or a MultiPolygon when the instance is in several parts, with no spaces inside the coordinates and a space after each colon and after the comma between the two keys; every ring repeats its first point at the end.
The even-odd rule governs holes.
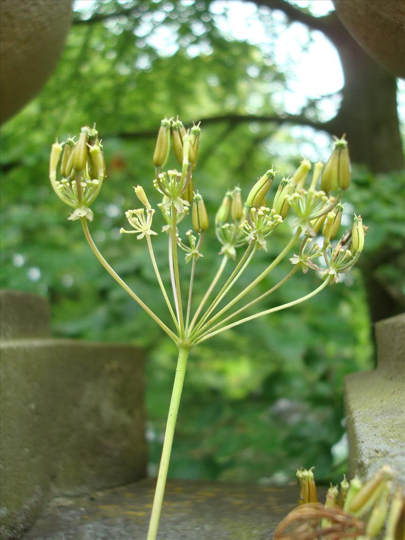
{"type": "Polygon", "coordinates": [[[38,294],[0,291],[1,339],[49,338],[49,303],[38,294]]]}

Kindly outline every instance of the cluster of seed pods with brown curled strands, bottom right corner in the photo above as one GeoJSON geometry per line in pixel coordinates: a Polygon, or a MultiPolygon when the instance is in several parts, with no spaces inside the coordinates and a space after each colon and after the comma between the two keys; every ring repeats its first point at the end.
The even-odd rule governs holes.
{"type": "MultiPolygon", "coordinates": [[[[314,469],[314,467],[312,467],[314,469]]],[[[297,508],[280,522],[274,540],[403,540],[405,535],[405,498],[397,487],[389,502],[390,467],[382,467],[368,482],[346,476],[337,485],[330,485],[325,504],[316,500],[312,469],[299,469],[300,497],[297,508]]]]}

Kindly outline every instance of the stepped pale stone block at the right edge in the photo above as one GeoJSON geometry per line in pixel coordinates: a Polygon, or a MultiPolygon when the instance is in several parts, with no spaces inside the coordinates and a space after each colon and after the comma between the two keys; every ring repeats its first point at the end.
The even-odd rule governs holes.
{"type": "Polygon", "coordinates": [[[405,314],[376,324],[378,367],[346,377],[350,475],[390,465],[405,488],[405,314]]]}

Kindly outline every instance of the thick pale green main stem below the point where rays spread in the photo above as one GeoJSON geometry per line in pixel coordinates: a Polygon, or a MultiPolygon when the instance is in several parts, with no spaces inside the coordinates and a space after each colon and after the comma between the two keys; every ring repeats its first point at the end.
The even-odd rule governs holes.
{"type": "Polygon", "coordinates": [[[172,451],[174,428],[176,427],[177,413],[179,410],[181,390],[183,389],[184,376],[186,373],[188,353],[188,348],[179,348],[176,376],[174,377],[173,392],[167,417],[165,438],[163,441],[163,449],[160,458],[156,490],[154,492],[152,514],[149,522],[147,540],[156,540],[156,536],[158,533],[160,511],[163,503],[167,470],[170,462],[170,454],[172,451]]]}

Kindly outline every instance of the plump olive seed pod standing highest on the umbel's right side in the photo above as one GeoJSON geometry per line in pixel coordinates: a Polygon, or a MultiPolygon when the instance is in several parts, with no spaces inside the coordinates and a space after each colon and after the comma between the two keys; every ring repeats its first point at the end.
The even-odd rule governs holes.
{"type": "Polygon", "coordinates": [[[350,159],[349,149],[345,135],[337,139],[332,154],[330,155],[322,172],[321,190],[325,193],[335,191],[340,187],[347,190],[350,185],[350,159]]]}

